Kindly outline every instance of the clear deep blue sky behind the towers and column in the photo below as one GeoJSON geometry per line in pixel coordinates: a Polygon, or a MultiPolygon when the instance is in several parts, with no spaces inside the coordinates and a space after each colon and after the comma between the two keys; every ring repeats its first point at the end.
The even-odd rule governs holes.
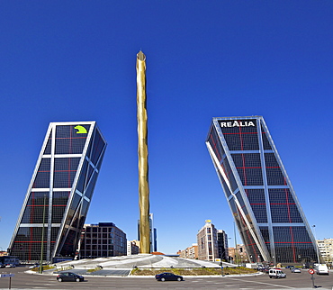
{"type": "Polygon", "coordinates": [[[224,116],[264,116],[317,238],[333,238],[332,15],[332,1],[1,1],[0,247],[60,121],[95,120],[108,142],[85,222],[137,238],[139,50],[158,250],[190,246],[207,219],[234,244],[204,143],[224,116]]]}

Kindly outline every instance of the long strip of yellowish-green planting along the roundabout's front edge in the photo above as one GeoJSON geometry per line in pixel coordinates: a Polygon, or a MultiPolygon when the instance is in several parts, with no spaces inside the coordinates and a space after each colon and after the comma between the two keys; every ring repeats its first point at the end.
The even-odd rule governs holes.
{"type": "MultiPolygon", "coordinates": [[[[216,267],[193,267],[193,268],[159,268],[159,269],[145,269],[135,268],[131,271],[131,276],[155,276],[160,273],[174,273],[180,276],[213,276],[221,275],[220,268],[216,267]]],[[[223,275],[238,275],[238,274],[254,274],[257,269],[250,269],[247,267],[224,267],[223,275]]]]}

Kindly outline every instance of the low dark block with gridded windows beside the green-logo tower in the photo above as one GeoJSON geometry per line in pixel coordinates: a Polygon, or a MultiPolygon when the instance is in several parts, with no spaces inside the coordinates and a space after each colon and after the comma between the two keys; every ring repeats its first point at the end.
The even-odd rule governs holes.
{"type": "Polygon", "coordinates": [[[80,258],[126,256],[126,233],[113,222],[85,224],[79,252],[80,258]]]}

